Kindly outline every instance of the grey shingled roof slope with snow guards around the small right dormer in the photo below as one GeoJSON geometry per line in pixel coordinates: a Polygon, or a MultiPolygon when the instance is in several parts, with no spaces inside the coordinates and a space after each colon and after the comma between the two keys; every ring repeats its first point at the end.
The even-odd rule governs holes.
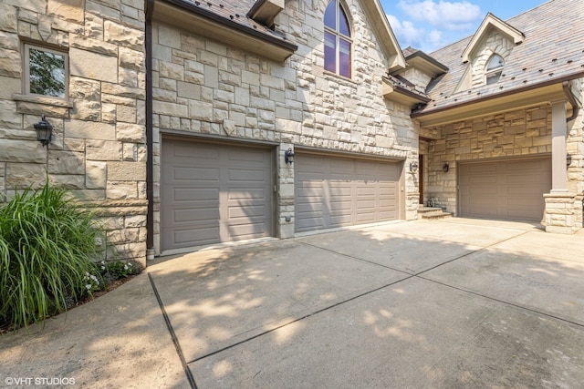
{"type": "MultiPolygon", "coordinates": [[[[473,36],[431,53],[450,71],[431,82],[426,93],[432,101],[414,112],[412,118],[419,118],[422,123],[424,117],[426,124],[435,123],[436,120],[428,116],[451,111],[454,118],[457,114],[454,108],[457,107],[461,107],[460,113],[471,115],[471,105],[479,107],[487,100],[491,100],[489,104],[495,112],[492,100],[499,97],[501,101],[506,101],[502,109],[503,106],[511,109],[520,105],[535,105],[550,101],[549,98],[555,95],[565,98],[562,82],[584,77],[584,24],[581,15],[584,15],[582,0],[550,0],[507,20],[506,24],[523,32],[525,38],[506,57],[503,74],[492,85],[455,92],[468,68],[461,55],[471,44],[473,36]]],[[[451,114],[441,115],[444,115],[443,121],[451,114]]]]}

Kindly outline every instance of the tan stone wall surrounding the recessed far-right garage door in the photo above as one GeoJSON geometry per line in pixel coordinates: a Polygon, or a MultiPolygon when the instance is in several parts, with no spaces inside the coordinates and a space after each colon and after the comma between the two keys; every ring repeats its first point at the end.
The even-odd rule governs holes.
{"type": "MultiPolygon", "coordinates": [[[[457,164],[466,160],[551,155],[551,107],[519,109],[438,128],[428,142],[426,196],[457,211],[457,164]],[[444,163],[450,170],[443,172],[444,163]]],[[[572,138],[572,137],[570,137],[572,138]]],[[[570,188],[576,185],[570,183],[570,188]]]]}

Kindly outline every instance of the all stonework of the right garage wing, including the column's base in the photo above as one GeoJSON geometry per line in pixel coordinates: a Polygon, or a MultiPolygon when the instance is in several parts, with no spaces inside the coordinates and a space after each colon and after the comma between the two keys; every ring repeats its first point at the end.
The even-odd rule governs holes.
{"type": "MultiPolygon", "coordinates": [[[[439,138],[427,141],[427,151],[421,147],[421,153],[428,156],[425,200],[435,198],[439,205],[454,214],[458,211],[458,163],[528,156],[551,157],[552,154],[551,107],[548,105],[464,120],[432,130],[440,134],[439,138]],[[450,166],[448,173],[443,172],[444,163],[450,166]]],[[[550,230],[556,232],[561,230],[560,227],[566,227],[569,231],[582,228],[583,131],[581,115],[568,123],[567,148],[572,158],[567,168],[568,193],[558,195],[558,198],[549,194],[545,197],[545,223],[553,226],[550,230]]]]}

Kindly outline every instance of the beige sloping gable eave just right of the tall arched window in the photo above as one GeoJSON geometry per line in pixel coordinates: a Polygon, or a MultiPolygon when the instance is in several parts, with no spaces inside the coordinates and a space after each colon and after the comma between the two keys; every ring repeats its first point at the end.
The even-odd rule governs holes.
{"type": "Polygon", "coordinates": [[[375,36],[380,40],[381,49],[389,60],[390,73],[406,67],[400,45],[395,35],[393,35],[380,0],[360,0],[360,4],[370,20],[370,27],[376,33],[375,36]]]}

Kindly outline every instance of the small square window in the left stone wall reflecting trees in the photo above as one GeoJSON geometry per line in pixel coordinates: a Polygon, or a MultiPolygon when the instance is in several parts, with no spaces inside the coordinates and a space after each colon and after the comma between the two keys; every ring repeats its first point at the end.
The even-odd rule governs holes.
{"type": "Polygon", "coordinates": [[[68,98],[68,53],[24,45],[25,95],[68,98]]]}

